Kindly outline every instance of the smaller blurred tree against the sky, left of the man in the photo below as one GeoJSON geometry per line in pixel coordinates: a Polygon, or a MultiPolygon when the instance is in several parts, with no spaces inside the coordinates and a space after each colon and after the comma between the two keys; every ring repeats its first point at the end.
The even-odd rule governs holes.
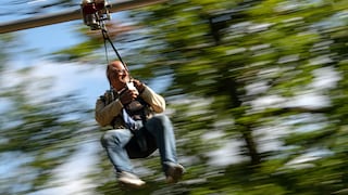
{"type": "MultiPolygon", "coordinates": [[[[13,76],[23,79],[29,72],[23,69],[13,76]]],[[[49,87],[49,82],[27,79],[18,84],[0,86],[4,103],[0,110],[0,172],[7,170],[0,177],[2,194],[29,194],[54,186],[49,182],[55,168],[66,162],[78,143],[86,140],[84,131],[91,117],[76,96],[35,98],[39,93],[28,91],[30,84],[36,84],[39,91],[49,87]]]]}

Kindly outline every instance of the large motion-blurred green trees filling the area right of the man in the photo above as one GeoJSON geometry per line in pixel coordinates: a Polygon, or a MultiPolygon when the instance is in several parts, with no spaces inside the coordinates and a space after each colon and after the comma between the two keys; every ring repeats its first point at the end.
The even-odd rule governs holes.
{"type": "MultiPolygon", "coordinates": [[[[138,78],[170,80],[165,95],[188,174],[165,185],[156,180],[158,158],[149,158],[144,177],[154,182],[130,193],[344,194],[347,9],[344,0],[179,0],[133,12],[142,28],[117,41],[138,78]],[[337,86],[323,86],[330,74],[337,86]],[[330,103],[296,102],[315,95],[330,103]],[[209,152],[240,140],[237,162],[211,162],[209,152]]],[[[92,174],[97,190],[120,193],[103,157],[92,174]]]]}

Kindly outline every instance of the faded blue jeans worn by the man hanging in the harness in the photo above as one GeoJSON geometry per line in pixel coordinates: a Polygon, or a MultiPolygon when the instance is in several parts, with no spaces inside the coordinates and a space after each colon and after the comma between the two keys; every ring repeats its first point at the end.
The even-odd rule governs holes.
{"type": "MultiPolygon", "coordinates": [[[[140,121],[139,121],[140,122],[140,121]]],[[[145,127],[138,131],[151,135],[160,151],[163,171],[166,165],[176,164],[175,135],[171,120],[165,115],[156,115],[148,119],[145,127]],[[148,134],[150,133],[150,134],[148,134]]],[[[135,136],[128,129],[113,129],[107,131],[101,138],[101,144],[105,148],[109,159],[117,172],[133,172],[133,165],[126,151],[127,144],[136,144],[135,136]]],[[[141,153],[141,151],[138,151],[141,153]]]]}

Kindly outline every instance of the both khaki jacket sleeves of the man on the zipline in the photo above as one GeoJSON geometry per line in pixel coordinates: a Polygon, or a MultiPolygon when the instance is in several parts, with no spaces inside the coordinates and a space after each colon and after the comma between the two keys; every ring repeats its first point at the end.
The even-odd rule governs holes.
{"type": "MultiPolygon", "coordinates": [[[[101,127],[111,126],[112,128],[124,128],[122,119],[123,105],[119,95],[108,90],[104,95],[101,95],[96,102],[95,117],[101,127]]],[[[149,104],[146,110],[147,117],[151,117],[153,113],[162,113],[165,110],[164,99],[152,91],[149,87],[145,86],[145,90],[140,98],[149,104]]]]}

